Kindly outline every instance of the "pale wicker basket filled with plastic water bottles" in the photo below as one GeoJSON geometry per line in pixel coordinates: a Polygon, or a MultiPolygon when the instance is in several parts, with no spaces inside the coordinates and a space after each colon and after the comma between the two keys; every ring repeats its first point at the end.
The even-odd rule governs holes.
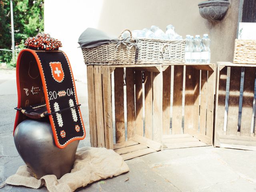
{"type": "Polygon", "coordinates": [[[137,64],[171,64],[185,62],[185,40],[141,38],[137,64]]]}

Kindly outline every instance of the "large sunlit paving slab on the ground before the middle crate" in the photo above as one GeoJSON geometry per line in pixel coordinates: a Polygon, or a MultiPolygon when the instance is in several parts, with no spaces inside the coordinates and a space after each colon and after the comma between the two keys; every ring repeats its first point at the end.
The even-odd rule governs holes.
{"type": "Polygon", "coordinates": [[[181,191],[238,179],[238,174],[214,154],[170,159],[154,169],[181,191]]]}

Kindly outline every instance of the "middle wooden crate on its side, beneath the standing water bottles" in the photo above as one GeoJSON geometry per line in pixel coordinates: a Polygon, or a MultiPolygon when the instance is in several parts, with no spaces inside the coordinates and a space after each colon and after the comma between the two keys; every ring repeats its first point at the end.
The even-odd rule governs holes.
{"type": "Polygon", "coordinates": [[[175,65],[163,72],[164,149],[212,145],[214,93],[214,64],[175,65]]]}

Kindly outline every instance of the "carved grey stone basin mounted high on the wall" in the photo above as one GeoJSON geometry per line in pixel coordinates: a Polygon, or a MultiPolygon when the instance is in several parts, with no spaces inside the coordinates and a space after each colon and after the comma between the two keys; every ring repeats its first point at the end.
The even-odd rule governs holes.
{"type": "Polygon", "coordinates": [[[208,20],[222,20],[230,6],[229,0],[208,0],[198,4],[202,18],[208,20]]]}

